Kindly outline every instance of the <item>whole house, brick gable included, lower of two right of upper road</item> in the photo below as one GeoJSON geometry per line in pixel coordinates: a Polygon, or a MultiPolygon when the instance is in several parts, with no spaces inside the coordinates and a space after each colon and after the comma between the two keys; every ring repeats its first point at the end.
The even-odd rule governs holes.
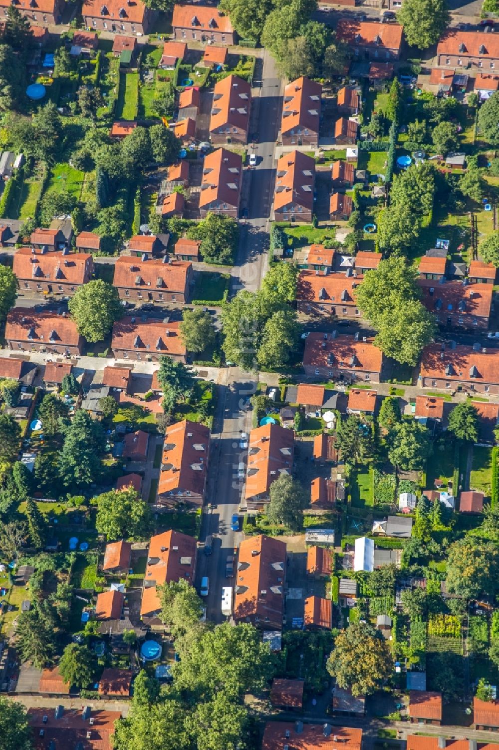
{"type": "Polygon", "coordinates": [[[312,221],[315,160],[301,151],[282,154],[277,162],[273,211],[276,221],[312,221]]]}

